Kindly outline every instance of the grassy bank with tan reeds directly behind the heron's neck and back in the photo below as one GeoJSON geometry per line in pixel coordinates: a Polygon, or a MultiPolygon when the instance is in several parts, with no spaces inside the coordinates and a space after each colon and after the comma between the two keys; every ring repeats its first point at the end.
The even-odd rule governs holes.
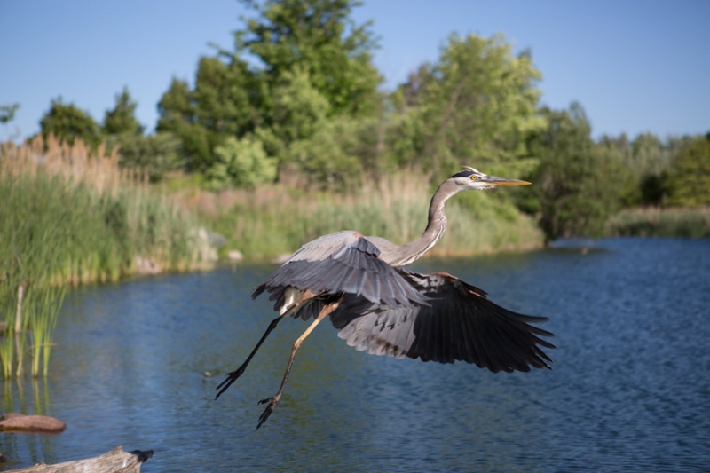
{"type": "MultiPolygon", "coordinates": [[[[249,259],[263,260],[338,230],[357,230],[395,243],[414,240],[426,226],[434,190],[426,176],[402,173],[351,195],[270,185],[222,193],[184,191],[182,202],[201,217],[203,225],[225,236],[225,250],[239,249],[249,259]]],[[[430,255],[540,248],[543,237],[533,219],[496,197],[461,193],[449,201],[446,234],[430,255]]]]}

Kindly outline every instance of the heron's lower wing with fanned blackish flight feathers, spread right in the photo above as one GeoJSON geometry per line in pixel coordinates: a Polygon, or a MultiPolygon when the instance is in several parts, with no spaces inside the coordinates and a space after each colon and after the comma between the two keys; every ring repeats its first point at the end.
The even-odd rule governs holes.
{"type": "Polygon", "coordinates": [[[347,295],[331,314],[338,336],[359,351],[422,361],[475,363],[497,373],[530,371],[552,362],[541,347],[555,348],[530,325],[547,320],[493,304],[485,292],[443,272],[398,270],[427,296],[427,305],[371,304],[347,295]],[[540,346],[539,346],[540,345],[540,346]]]}

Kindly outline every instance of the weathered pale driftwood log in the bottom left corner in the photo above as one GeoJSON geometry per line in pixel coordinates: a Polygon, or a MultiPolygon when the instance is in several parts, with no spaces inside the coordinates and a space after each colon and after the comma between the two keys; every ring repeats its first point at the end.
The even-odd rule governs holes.
{"type": "Polygon", "coordinates": [[[37,463],[33,467],[13,469],[13,473],[140,473],[140,464],[153,456],[153,450],[123,452],[119,445],[114,450],[86,460],[66,461],[56,465],[37,463]]]}

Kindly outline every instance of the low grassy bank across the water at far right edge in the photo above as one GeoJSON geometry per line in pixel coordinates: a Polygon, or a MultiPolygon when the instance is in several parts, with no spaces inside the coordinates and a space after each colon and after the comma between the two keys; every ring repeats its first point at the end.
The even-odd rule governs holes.
{"type": "Polygon", "coordinates": [[[606,223],[610,236],[710,237],[710,207],[626,209],[606,223]]]}

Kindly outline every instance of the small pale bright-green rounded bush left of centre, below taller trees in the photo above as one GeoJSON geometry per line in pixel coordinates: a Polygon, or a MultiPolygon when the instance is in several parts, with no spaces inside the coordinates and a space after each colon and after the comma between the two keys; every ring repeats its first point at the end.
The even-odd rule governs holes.
{"type": "Polygon", "coordinates": [[[205,177],[210,189],[253,187],[276,178],[276,160],[269,158],[261,141],[253,137],[227,138],[215,149],[216,160],[205,177]]]}

